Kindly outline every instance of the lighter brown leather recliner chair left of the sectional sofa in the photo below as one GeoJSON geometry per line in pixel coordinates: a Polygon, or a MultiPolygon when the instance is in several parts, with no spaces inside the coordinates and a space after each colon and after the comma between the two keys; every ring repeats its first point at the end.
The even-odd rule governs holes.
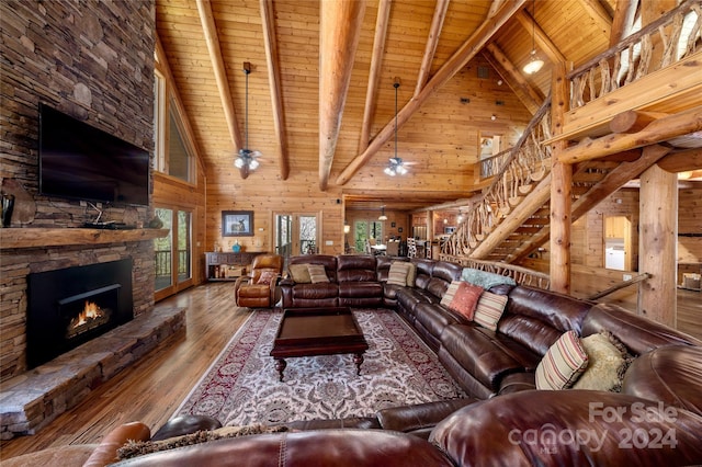
{"type": "Polygon", "coordinates": [[[234,285],[238,307],[269,308],[275,305],[275,286],[283,272],[283,257],[259,254],[253,259],[251,272],[234,285]]]}

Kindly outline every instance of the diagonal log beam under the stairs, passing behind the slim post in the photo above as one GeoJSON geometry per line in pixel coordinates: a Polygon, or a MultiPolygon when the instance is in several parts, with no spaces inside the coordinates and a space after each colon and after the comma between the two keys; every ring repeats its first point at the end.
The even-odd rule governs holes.
{"type": "MultiPolygon", "coordinates": [[[[590,209],[600,204],[602,200],[621,189],[632,179],[641,175],[650,166],[664,158],[670,148],[663,146],[648,146],[643,151],[638,149],[639,158],[632,162],[622,162],[602,179],[600,183],[592,186],[587,193],[573,203],[570,217],[575,223],[585,216],[590,209]],[[643,152],[643,153],[642,153],[643,152]]],[[[670,156],[668,156],[670,157],[670,156]]],[[[528,243],[522,244],[513,255],[506,259],[507,262],[520,261],[526,258],[532,251],[541,247],[551,235],[551,226],[545,226],[539,232],[531,236],[528,243]]]]}

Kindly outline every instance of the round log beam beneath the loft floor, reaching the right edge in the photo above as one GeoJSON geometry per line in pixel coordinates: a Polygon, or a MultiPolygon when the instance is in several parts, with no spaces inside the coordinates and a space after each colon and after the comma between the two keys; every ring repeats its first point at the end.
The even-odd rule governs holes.
{"type": "Polygon", "coordinates": [[[658,118],[637,133],[613,134],[597,139],[586,139],[565,149],[558,160],[575,163],[598,159],[626,149],[663,143],[676,136],[702,130],[702,106],[692,107],[670,116],[658,118]]]}

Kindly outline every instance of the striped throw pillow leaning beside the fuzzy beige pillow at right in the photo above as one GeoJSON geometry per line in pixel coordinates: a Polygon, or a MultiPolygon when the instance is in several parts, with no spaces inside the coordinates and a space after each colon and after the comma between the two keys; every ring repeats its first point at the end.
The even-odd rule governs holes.
{"type": "Polygon", "coordinates": [[[575,331],[564,333],[536,366],[536,389],[567,389],[588,365],[588,354],[575,331]]]}

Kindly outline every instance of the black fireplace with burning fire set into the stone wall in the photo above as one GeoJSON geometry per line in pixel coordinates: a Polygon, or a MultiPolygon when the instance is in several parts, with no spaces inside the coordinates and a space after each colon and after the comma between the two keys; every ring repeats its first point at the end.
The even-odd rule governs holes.
{"type": "Polygon", "coordinates": [[[33,273],[27,282],[29,368],[134,317],[131,259],[33,273]]]}

